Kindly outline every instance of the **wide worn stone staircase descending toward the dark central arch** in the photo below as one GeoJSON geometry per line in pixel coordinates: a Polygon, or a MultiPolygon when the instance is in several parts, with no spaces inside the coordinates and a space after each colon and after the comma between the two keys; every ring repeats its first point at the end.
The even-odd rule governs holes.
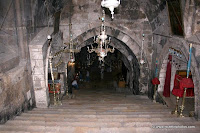
{"type": "Polygon", "coordinates": [[[0,133],[199,133],[194,118],[171,115],[172,109],[147,96],[124,95],[108,89],[81,89],[61,106],[34,108],[16,116],[0,133]]]}

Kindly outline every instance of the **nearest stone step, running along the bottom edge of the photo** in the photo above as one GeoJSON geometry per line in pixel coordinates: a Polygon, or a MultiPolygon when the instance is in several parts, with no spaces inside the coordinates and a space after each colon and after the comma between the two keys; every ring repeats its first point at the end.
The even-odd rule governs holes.
{"type": "Polygon", "coordinates": [[[152,128],[152,127],[112,127],[112,128],[90,128],[90,127],[37,127],[35,130],[18,129],[6,127],[1,133],[199,133],[199,128],[152,128]],[[38,130],[36,130],[38,129],[38,130]]]}

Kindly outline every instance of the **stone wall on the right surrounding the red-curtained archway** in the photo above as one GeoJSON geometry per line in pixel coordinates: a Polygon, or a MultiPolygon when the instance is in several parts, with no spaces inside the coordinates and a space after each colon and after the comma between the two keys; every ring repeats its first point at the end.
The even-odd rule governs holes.
{"type": "MultiPolygon", "coordinates": [[[[169,47],[177,48],[184,54],[184,59],[181,64],[180,69],[186,69],[186,64],[188,61],[189,54],[189,43],[193,43],[193,52],[192,52],[192,63],[191,71],[193,75],[193,82],[195,84],[195,114],[199,119],[199,2],[197,1],[181,1],[182,4],[182,13],[184,21],[184,31],[185,37],[173,36],[170,29],[170,24],[168,18],[167,8],[163,8],[158,12],[157,16],[154,19],[151,19],[151,27],[153,28],[153,58],[152,59],[152,78],[155,77],[155,64],[156,59],[158,59],[158,75],[161,81],[161,84],[158,87],[159,91],[163,90],[164,79],[166,74],[166,63],[167,57],[169,54],[169,47]],[[195,7],[195,8],[194,8],[195,7]],[[186,39],[187,38],[187,39],[186,39]]],[[[171,79],[171,89],[173,88],[173,79],[175,71],[177,70],[176,65],[172,65],[172,79],[171,79]]],[[[152,87],[150,88],[150,95],[152,96],[152,87]]],[[[151,97],[150,96],[150,97],[151,97]]]]}

